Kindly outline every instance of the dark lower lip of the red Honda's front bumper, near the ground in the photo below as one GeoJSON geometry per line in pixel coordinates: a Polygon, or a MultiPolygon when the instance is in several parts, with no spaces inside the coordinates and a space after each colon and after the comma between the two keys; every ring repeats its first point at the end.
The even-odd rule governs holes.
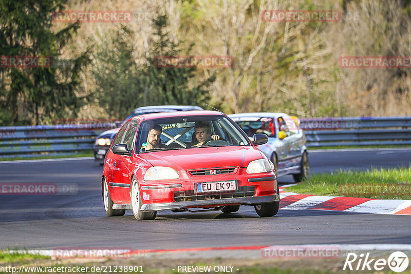
{"type": "Polygon", "coordinates": [[[279,193],[274,195],[265,196],[252,196],[252,197],[240,197],[240,198],[228,198],[228,199],[211,199],[200,201],[184,201],[174,203],[160,203],[160,204],[143,204],[141,211],[159,211],[159,210],[172,210],[172,209],[184,209],[204,206],[225,206],[231,204],[237,205],[260,205],[272,202],[279,202],[279,193]]]}

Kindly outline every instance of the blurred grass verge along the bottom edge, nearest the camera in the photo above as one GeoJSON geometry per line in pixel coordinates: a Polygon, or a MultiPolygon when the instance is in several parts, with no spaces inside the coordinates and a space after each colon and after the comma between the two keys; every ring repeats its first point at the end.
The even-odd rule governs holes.
{"type": "MultiPolygon", "coordinates": [[[[16,249],[15,249],[16,250],[16,249]]],[[[14,251],[15,251],[14,250],[14,251]]],[[[15,273],[24,267],[23,270],[29,271],[33,274],[40,273],[78,273],[77,267],[83,268],[84,270],[79,270],[81,273],[96,273],[104,272],[97,270],[97,268],[105,269],[106,272],[110,269],[117,269],[117,273],[144,273],[148,274],[176,274],[182,273],[184,271],[177,271],[178,265],[203,265],[210,266],[211,272],[214,273],[214,266],[233,266],[233,273],[238,274],[292,274],[292,273],[302,273],[302,274],[326,274],[326,273],[347,273],[347,271],[342,270],[342,262],[344,258],[328,260],[328,259],[299,259],[299,260],[261,260],[261,259],[250,259],[250,260],[234,260],[233,259],[212,259],[204,261],[203,259],[185,259],[182,261],[164,259],[159,260],[157,258],[151,259],[130,259],[130,260],[117,260],[113,261],[111,259],[106,260],[56,260],[48,256],[41,255],[31,255],[27,251],[23,250],[21,253],[12,252],[10,250],[0,250],[0,266],[7,267],[6,271],[0,270],[0,273],[11,273],[11,267],[15,268],[15,273]],[[120,271],[120,266],[133,266],[133,270],[138,271],[120,271]],[[135,268],[135,267],[138,268],[135,268]],[[140,267],[141,266],[141,267],[140,267]],[[59,270],[58,268],[60,267],[59,270]],[[30,268],[30,270],[28,269],[30,268]],[[55,270],[50,271],[50,268],[55,268],[55,270]],[[85,269],[86,268],[86,269],[85,269]],[[72,270],[71,270],[72,269],[72,270]],[[91,269],[94,269],[91,272],[91,269]],[[174,270],[173,270],[174,269],[174,270]],[[238,270],[237,270],[238,269],[238,270]]],[[[231,269],[231,268],[228,268],[231,269]]],[[[389,271],[386,267],[383,272],[394,273],[389,271]]],[[[226,272],[219,272],[226,273],[226,272]]],[[[411,272],[407,269],[404,274],[410,274],[411,272]]]]}

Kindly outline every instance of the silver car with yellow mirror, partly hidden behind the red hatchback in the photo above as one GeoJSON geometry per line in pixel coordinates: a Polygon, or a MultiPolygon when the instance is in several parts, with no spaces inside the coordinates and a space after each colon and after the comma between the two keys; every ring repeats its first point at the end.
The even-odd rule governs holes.
{"type": "Polygon", "coordinates": [[[300,121],[285,113],[255,112],[228,115],[252,138],[265,133],[268,143],[257,148],[273,162],[277,176],[292,174],[296,182],[308,177],[310,165],[300,121]]]}

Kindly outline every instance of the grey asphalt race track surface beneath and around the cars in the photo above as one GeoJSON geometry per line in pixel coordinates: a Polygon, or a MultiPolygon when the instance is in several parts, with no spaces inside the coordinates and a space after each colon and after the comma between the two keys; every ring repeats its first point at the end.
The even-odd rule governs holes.
{"type": "MultiPolygon", "coordinates": [[[[311,172],[411,165],[411,149],[309,153],[311,172]]],[[[177,249],[249,245],[411,244],[409,217],[280,209],[259,218],[253,207],[237,213],[163,211],[154,221],[106,217],[102,167],[92,160],[0,163],[0,184],[55,183],[77,194],[0,195],[0,248],[116,247],[177,249]]],[[[291,177],[280,179],[292,183],[291,177]]]]}

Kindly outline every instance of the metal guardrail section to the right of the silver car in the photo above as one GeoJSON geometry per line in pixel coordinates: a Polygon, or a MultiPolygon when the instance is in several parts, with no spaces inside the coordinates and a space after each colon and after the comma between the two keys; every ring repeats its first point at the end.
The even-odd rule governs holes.
{"type": "Polygon", "coordinates": [[[411,117],[300,119],[308,147],[411,145],[411,117]]]}

